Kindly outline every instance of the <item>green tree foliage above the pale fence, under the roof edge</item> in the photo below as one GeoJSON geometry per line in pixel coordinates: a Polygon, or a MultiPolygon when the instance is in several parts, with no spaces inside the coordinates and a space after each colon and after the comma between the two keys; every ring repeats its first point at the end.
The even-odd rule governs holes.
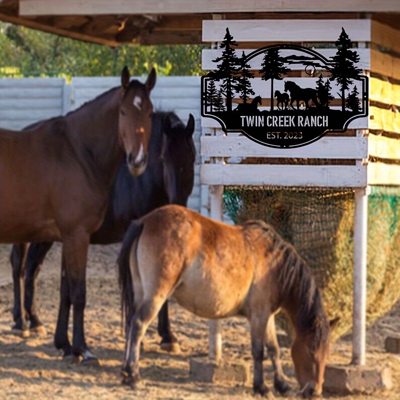
{"type": "Polygon", "coordinates": [[[0,76],[201,75],[199,45],[110,48],[0,22],[0,76]]]}

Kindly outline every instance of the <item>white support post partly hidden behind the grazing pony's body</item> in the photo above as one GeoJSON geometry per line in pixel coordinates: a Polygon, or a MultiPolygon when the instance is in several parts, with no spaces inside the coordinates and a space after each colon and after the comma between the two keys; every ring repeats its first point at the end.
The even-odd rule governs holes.
{"type": "MultiPolygon", "coordinates": [[[[222,185],[209,186],[210,217],[222,221],[222,185]]],[[[220,322],[217,319],[208,321],[208,357],[219,361],[222,355],[222,333],[220,322]]]]}

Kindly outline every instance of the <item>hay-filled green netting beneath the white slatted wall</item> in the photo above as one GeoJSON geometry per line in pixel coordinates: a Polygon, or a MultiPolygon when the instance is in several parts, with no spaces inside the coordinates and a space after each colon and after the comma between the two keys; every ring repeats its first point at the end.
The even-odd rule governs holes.
{"type": "MultiPolygon", "coordinates": [[[[368,196],[367,320],[400,297],[400,190],[368,196]]],[[[322,288],[335,337],[351,327],[354,192],[338,188],[225,187],[224,210],[235,223],[263,219],[294,245],[322,288]]],[[[280,318],[280,324],[288,324],[280,318]]]]}

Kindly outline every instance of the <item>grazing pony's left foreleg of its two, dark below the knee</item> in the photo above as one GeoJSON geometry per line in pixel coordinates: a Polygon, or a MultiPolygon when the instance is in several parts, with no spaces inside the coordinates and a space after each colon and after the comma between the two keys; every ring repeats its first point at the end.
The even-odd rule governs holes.
{"type": "Polygon", "coordinates": [[[271,392],[264,383],[262,370],[266,321],[267,318],[258,313],[250,318],[251,355],[254,362],[253,390],[261,396],[271,397],[271,392]]]}

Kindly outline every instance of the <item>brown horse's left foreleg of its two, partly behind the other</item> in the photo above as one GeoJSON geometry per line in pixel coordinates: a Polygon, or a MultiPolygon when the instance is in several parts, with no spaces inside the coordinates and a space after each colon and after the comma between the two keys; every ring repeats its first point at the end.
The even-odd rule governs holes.
{"type": "Polygon", "coordinates": [[[64,352],[63,358],[66,359],[72,356],[72,346],[68,339],[68,321],[71,300],[69,297],[69,282],[65,266],[65,256],[63,253],[61,257],[60,301],[57,326],[54,334],[54,345],[56,348],[61,349],[64,352]]]}

